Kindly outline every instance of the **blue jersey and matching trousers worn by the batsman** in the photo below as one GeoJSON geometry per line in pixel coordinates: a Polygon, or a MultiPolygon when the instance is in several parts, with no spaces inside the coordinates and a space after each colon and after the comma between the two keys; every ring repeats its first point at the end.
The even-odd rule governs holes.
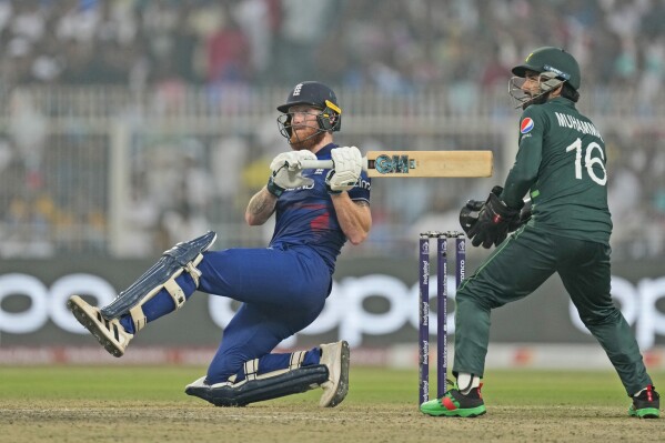
{"type": "MultiPolygon", "coordinates": [[[[335,144],[316,153],[330,160],[335,144]]],[[[244,377],[243,363],[260,359],[261,373],[290,368],[291,354],[271,354],[284,339],[310,325],[323,310],[332,289],[335,260],[346,242],[325,189],[329,170],[303,171],[314,183],[285,190],[276,203],[276,221],[270,248],[206,251],[198,264],[198,284],[188,272],[175,279],[189,299],[194,291],[229,296],[242,302],[224,328],[224,338],[208,369],[209,384],[236,375],[244,377]],[[319,260],[321,258],[321,260],[319,260]],[[322,265],[322,262],[326,265],[322,265]]],[[[370,201],[366,173],[349,192],[354,201],[370,201]]],[[[173,298],[165,289],[143,306],[148,322],[173,311],[173,298]]],[[[133,320],[121,318],[127,331],[133,320]]],[[[308,352],[303,364],[320,361],[318,348],[308,352]]]]}

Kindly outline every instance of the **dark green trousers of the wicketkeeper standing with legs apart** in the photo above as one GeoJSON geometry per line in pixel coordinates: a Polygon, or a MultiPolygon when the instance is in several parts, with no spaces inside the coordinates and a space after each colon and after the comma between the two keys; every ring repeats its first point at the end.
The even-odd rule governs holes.
{"type": "Polygon", "coordinates": [[[652,384],[633,331],[609,295],[609,246],[554,235],[532,223],[501,243],[457,291],[453,373],[482,377],[492,309],[525,298],[555,272],[628,395],[652,384]]]}

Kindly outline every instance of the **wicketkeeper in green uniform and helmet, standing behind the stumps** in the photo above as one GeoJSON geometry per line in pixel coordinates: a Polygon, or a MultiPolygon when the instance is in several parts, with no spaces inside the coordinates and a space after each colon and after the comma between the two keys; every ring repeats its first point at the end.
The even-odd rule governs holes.
{"type": "Polygon", "coordinates": [[[515,163],[503,189],[495,187],[485,202],[470,201],[460,214],[474,246],[496,249],[457,291],[455,386],[442,399],[423,403],[421,411],[453,416],[485,413],[481,379],[491,311],[531,294],[556,272],[631,396],[629,415],[658,417],[659,395],[609,294],[612,220],[605,143],[575,108],[580,66],[564,50],[545,47],[512,71],[516,77],[511,80],[511,95],[524,110],[515,163]],[[531,210],[523,208],[527,193],[531,210]]]}

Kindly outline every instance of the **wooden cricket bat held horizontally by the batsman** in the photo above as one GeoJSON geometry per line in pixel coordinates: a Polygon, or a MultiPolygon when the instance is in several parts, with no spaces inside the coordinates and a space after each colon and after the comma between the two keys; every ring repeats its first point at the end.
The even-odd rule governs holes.
{"type": "MultiPolygon", "coordinates": [[[[332,169],[332,160],[302,160],[302,169],[332,169]]],[[[492,151],[369,151],[371,178],[492,177],[492,151]]]]}

